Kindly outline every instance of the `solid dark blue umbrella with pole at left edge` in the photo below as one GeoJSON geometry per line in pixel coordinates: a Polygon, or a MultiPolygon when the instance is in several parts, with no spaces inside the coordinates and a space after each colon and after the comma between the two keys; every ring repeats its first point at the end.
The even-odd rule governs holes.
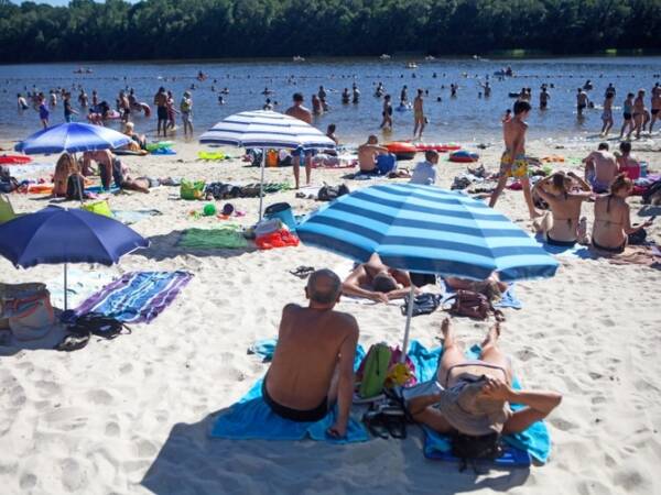
{"type": "Polygon", "coordinates": [[[67,309],[67,263],[112,265],[149,241],[121,222],[79,209],[50,206],[0,226],[0,255],[14,266],[64,263],[64,309],[67,309]]]}

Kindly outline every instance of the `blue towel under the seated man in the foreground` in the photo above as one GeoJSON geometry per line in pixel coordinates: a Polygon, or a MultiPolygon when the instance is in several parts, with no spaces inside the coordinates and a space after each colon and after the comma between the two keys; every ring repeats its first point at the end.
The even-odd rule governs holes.
{"type": "MultiPolygon", "coordinates": [[[[275,350],[277,341],[269,339],[259,341],[251,346],[256,354],[270,361],[275,350]]],[[[360,361],[365,356],[365,350],[358,345],[354,370],[358,370],[360,361]]],[[[227,411],[223,413],[214,425],[210,437],[232,440],[303,440],[311,438],[316,441],[344,444],[365,442],[369,435],[362,424],[355,418],[349,419],[347,436],[344,439],[335,439],[326,435],[326,430],[335,422],[337,407],[326,417],[316,422],[296,422],[281,418],[263,402],[261,387],[263,378],[250,388],[250,391],[227,411]]]]}

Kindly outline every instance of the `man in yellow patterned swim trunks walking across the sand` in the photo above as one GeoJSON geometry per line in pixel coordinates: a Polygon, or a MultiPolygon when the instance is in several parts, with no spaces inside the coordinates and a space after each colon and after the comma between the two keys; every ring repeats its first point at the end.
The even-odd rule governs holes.
{"type": "Polygon", "coordinates": [[[523,197],[528,206],[530,218],[534,219],[539,213],[534,209],[532,195],[530,193],[530,180],[528,178],[528,161],[525,158],[525,131],[528,124],[524,119],[530,113],[530,103],[528,101],[517,101],[514,103],[514,117],[502,123],[502,138],[505,140],[505,152],[500,158],[500,176],[498,185],[491,195],[489,206],[494,208],[498,197],[505,189],[507,179],[513,177],[521,183],[523,197]]]}

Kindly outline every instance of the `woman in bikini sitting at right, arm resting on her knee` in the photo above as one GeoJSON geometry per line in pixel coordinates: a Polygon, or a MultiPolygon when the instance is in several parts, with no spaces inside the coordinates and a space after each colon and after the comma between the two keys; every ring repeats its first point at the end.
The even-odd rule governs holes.
{"type": "Polygon", "coordinates": [[[610,185],[610,194],[595,200],[595,224],[593,248],[607,253],[621,253],[627,246],[629,234],[652,224],[651,220],[639,227],[631,227],[631,212],[627,197],[633,183],[625,174],[619,174],[610,185]]]}

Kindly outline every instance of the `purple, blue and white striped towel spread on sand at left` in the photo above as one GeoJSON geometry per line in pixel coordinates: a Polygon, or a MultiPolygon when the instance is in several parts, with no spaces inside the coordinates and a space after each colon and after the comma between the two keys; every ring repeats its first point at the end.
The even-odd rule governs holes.
{"type": "Polygon", "coordinates": [[[192,277],[187,272],[130,272],[87,298],[76,315],[94,311],[127,323],[149,323],[192,277]]]}

